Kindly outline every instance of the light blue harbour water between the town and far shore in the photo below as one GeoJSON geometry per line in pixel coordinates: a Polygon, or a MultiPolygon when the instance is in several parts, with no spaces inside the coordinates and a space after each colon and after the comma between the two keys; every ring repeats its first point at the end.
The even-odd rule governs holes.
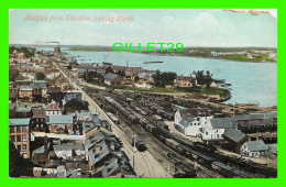
{"type": "MultiPolygon", "coordinates": [[[[63,51],[65,51],[63,48],[63,51]]],[[[210,70],[213,78],[226,79],[232,84],[232,98],[226,103],[258,103],[261,107],[277,106],[277,64],[242,63],[221,59],[160,56],[117,52],[65,51],[76,57],[78,63],[101,63],[103,56],[113,65],[143,67],[145,69],[175,72],[188,76],[194,70],[210,70]],[[84,61],[81,61],[84,59],[84,61]],[[158,64],[143,64],[146,61],[163,61],[158,64]]]]}

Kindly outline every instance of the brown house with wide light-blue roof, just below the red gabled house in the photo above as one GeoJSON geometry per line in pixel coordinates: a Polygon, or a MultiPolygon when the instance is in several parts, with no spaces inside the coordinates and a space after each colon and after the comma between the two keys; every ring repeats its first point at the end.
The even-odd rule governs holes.
{"type": "Polygon", "coordinates": [[[74,134],[74,116],[46,116],[46,124],[51,133],[74,134]]]}

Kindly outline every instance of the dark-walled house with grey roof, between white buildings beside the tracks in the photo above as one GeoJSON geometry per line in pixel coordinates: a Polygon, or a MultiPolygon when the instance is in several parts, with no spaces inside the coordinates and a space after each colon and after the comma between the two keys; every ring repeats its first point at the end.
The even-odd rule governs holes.
{"type": "Polygon", "coordinates": [[[224,132],[223,140],[227,142],[224,148],[240,153],[240,147],[248,140],[248,136],[241,130],[229,129],[224,132]]]}

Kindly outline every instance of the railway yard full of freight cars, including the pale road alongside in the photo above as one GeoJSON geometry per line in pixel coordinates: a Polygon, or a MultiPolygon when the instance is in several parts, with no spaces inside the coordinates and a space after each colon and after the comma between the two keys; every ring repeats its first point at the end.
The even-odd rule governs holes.
{"type": "MultiPolygon", "coordinates": [[[[59,69],[62,69],[59,67],[59,69]]],[[[61,70],[64,75],[63,69],[61,70]]],[[[66,76],[66,75],[65,75],[66,76]]],[[[273,178],[277,169],[241,156],[227,154],[174,132],[175,111],[178,107],[208,107],[213,116],[231,114],[231,107],[201,103],[175,96],[147,92],[109,90],[82,81],[73,81],[86,95],[89,108],[101,111],[112,122],[112,129],[123,142],[139,177],[188,178],[273,178]],[[87,99],[88,98],[88,99],[87,99]],[[185,103],[185,105],[182,105],[185,103]],[[218,107],[219,106],[219,107],[218,107]],[[219,113],[221,112],[221,113],[219,113]],[[135,136],[142,142],[134,143],[135,136]],[[143,144],[143,146],[141,146],[143,144]],[[144,148],[145,146],[145,148],[144,148]],[[135,148],[136,147],[136,148],[135,148]]],[[[224,105],[223,105],[224,106],[224,105]]]]}

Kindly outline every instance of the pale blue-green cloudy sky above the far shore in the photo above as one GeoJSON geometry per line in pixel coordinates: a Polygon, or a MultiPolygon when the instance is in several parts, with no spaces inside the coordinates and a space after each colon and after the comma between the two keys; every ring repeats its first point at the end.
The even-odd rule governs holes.
{"type": "Polygon", "coordinates": [[[105,45],[183,43],[185,46],[277,46],[271,14],[213,9],[18,9],[10,11],[10,44],[105,45]],[[42,20],[36,20],[36,18],[42,20]],[[75,21],[73,19],[90,19],[75,21]],[[56,19],[55,19],[56,18],[56,19]],[[124,18],[122,21],[121,18],[124,18]],[[112,20],[113,19],[113,20],[112,20]]]}

